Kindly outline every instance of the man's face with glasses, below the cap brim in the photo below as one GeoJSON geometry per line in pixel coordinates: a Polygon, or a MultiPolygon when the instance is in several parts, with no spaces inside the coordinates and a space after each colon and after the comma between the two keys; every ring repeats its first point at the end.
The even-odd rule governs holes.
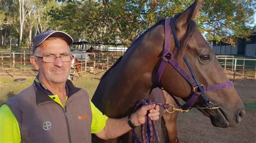
{"type": "MultiPolygon", "coordinates": [[[[36,56],[69,55],[69,45],[65,40],[60,38],[49,38],[37,47],[36,56]]],[[[33,67],[39,71],[39,80],[43,84],[65,83],[69,77],[71,61],[63,62],[61,58],[56,58],[52,63],[44,62],[43,59],[32,57],[33,67]],[[33,63],[33,60],[34,61],[33,63]]]]}

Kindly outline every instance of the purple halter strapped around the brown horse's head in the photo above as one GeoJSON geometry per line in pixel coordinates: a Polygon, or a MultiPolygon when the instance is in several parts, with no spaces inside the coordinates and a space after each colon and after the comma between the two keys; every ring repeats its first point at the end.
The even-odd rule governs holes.
{"type": "Polygon", "coordinates": [[[178,41],[177,35],[175,33],[175,28],[174,25],[171,25],[171,18],[166,18],[165,19],[165,45],[164,45],[164,51],[161,55],[161,63],[157,72],[157,84],[158,87],[160,86],[160,78],[161,78],[161,74],[163,73],[165,66],[167,65],[167,63],[170,63],[174,69],[176,69],[178,71],[178,73],[183,76],[185,78],[185,80],[192,86],[193,88],[193,95],[190,97],[190,99],[188,99],[188,101],[184,104],[184,105],[180,105],[179,101],[174,97],[174,101],[177,103],[177,105],[183,109],[190,109],[192,108],[192,105],[197,101],[197,98],[201,95],[205,101],[206,104],[206,108],[207,109],[211,109],[213,108],[213,104],[212,102],[210,102],[208,100],[208,98],[205,95],[206,91],[212,91],[212,90],[219,90],[219,89],[224,89],[224,88],[228,88],[228,87],[233,87],[234,84],[233,82],[225,82],[225,83],[221,83],[221,84],[215,84],[215,85],[208,85],[208,86],[204,86],[201,85],[200,82],[198,81],[198,78],[196,76],[196,74],[194,73],[190,63],[188,62],[186,55],[184,54],[183,59],[186,62],[186,65],[188,67],[188,69],[191,72],[191,75],[193,77],[191,77],[189,74],[187,74],[186,70],[184,70],[179,63],[173,58],[173,54],[170,51],[170,39],[171,39],[171,33],[173,34],[173,38],[174,41],[176,42],[176,45],[178,48],[180,48],[180,43],[178,41]],[[167,57],[167,58],[166,58],[167,57]],[[198,91],[199,89],[199,91],[198,91]]]}

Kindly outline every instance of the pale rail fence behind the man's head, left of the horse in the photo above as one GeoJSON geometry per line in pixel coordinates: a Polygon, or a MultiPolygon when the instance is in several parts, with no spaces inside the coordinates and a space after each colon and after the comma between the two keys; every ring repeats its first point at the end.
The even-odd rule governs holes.
{"type": "MultiPolygon", "coordinates": [[[[96,74],[96,69],[107,70],[109,69],[117,59],[122,56],[124,52],[93,52],[85,53],[72,52],[75,59],[78,59],[79,63],[75,63],[71,70],[71,76],[78,77],[79,73],[85,74],[86,71],[96,74]],[[86,59],[86,60],[85,60],[86,59]],[[82,70],[78,71],[76,66],[80,65],[82,70]]],[[[4,71],[9,75],[15,76],[16,73],[37,73],[33,69],[30,63],[31,51],[16,51],[0,50],[0,71],[4,71]]],[[[100,71],[100,72],[102,72],[100,71]]]]}

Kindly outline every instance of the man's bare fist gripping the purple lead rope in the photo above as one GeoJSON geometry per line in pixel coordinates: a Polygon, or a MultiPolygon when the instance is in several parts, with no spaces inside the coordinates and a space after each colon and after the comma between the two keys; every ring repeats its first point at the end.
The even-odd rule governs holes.
{"type": "Polygon", "coordinates": [[[147,122],[147,111],[151,120],[158,120],[160,115],[159,106],[156,104],[143,105],[135,113],[131,115],[131,121],[135,126],[145,124],[147,122]]]}

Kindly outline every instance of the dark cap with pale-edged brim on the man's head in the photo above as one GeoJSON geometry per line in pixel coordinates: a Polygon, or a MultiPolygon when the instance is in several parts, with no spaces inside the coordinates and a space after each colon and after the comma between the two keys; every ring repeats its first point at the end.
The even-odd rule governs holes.
{"type": "Polygon", "coordinates": [[[46,39],[50,38],[50,37],[60,37],[63,38],[69,45],[72,44],[73,42],[73,38],[62,31],[54,31],[54,30],[49,30],[49,31],[45,31],[43,33],[37,34],[34,38],[33,41],[33,53],[35,52],[36,48],[41,45],[46,39]]]}

